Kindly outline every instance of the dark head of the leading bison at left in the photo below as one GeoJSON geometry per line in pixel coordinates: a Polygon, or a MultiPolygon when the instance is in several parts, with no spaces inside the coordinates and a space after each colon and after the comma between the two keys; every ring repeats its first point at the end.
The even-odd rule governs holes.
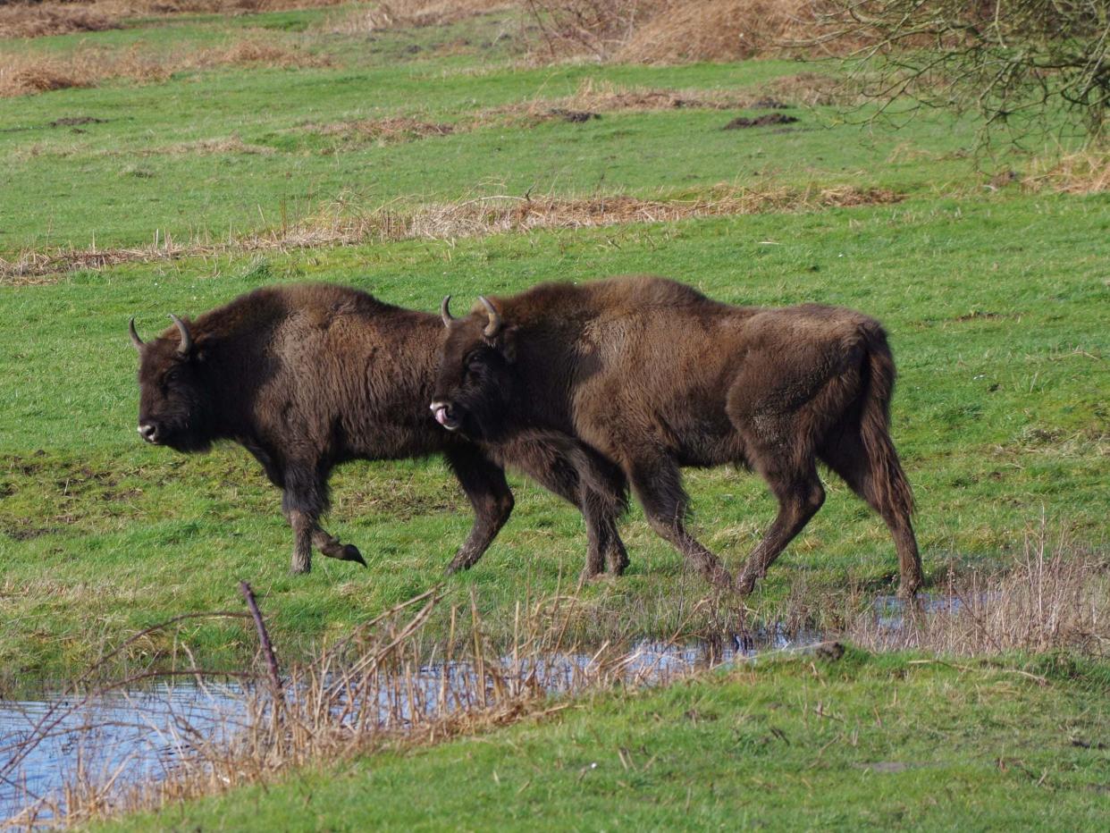
{"type": "Polygon", "coordinates": [[[175,451],[206,451],[209,395],[202,357],[189,327],[176,315],[179,339],[162,337],[143,343],[131,319],[131,343],[139,351],[139,435],[149,443],[175,451]]]}

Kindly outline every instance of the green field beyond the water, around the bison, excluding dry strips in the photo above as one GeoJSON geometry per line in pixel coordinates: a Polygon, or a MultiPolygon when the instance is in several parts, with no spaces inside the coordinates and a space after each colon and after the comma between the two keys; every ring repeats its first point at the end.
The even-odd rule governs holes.
{"type": "MultiPolygon", "coordinates": [[[[317,559],[315,572],[294,579],[279,495],[243,451],[184,458],[137,440],[128,318],[149,337],[170,311],[196,314],[279,281],[349,283],[434,310],[448,292],[462,300],[653,271],[724,301],[855,307],[891,334],[901,374],[894,435],[935,580],[1003,565],[1042,519],[1078,549],[1104,552],[1104,194],[991,184],[968,150],[975,126],[942,113],[892,131],[847,123],[831,104],[794,106],[775,112],[796,124],[722,130],[764,111],[715,109],[720,102],[766,90],[805,98],[817,83],[807,64],[527,68],[513,38],[497,40],[519,26],[504,16],[366,38],[332,32],[329,13],[174,18],[0,44],[20,54],[137,43],[188,52],[250,30],[329,62],[196,69],[0,100],[0,685],[63,680],[169,615],[234,605],[240,579],[262,594],[290,658],[441,581],[470,518],[438,461],[343,469],[330,529],[355,542],[370,569],[317,559]],[[598,94],[629,90],[680,91],[704,106],[636,109],[598,94]],[[544,116],[567,102],[599,106],[601,118],[544,116]],[[423,138],[357,127],[402,117],[458,127],[423,138]],[[103,121],[51,126],[61,118],[103,121]],[[403,199],[418,210],[529,190],[552,200],[689,199],[720,183],[755,194],[754,213],[262,252],[236,242],[283,222],[311,224],[335,204],[357,213],[403,199]],[[824,209],[813,198],[849,185],[884,197],[824,209]],[[775,210],[784,191],[797,195],[796,210],[775,210]],[[219,253],[191,255],[186,244],[176,259],[129,262],[127,247],[155,234],[231,242],[219,253]],[[18,268],[20,255],[88,251],[93,241],[123,262],[18,268]]],[[[735,566],[769,522],[771,499],[757,478],[726,470],[690,472],[688,484],[696,528],[735,566]]],[[[513,600],[573,586],[585,549],[575,511],[527,483],[514,488],[509,525],[443,591],[445,608],[474,592],[495,631],[511,626],[513,600]]],[[[690,613],[706,589],[677,553],[638,511],[624,530],[632,569],[583,590],[592,615],[577,635],[709,626],[690,613]]],[[[894,574],[881,523],[833,480],[825,509],[749,603],[771,615],[799,592],[835,600],[816,605],[819,619],[860,592],[886,592],[894,574]]],[[[195,623],[153,634],[124,659],[164,666],[182,642],[216,666],[253,653],[239,624],[195,623]]]]}

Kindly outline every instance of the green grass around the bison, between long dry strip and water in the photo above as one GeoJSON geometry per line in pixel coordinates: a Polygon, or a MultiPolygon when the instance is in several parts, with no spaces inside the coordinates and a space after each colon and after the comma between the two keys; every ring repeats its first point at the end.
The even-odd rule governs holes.
{"type": "MultiPolygon", "coordinates": [[[[0,604],[20,624],[4,629],[0,666],[11,676],[64,676],[103,641],[171,613],[236,604],[242,578],[263,593],[279,643],[296,655],[440,581],[470,513],[437,461],[342,470],[329,528],[362,548],[370,569],[317,559],[312,575],[292,579],[278,492],[245,452],[180,456],[135,438],[128,317],[138,314],[149,335],[171,310],[194,314],[281,280],[352,283],[433,310],[446,292],[465,299],[653,270],[727,301],[856,307],[891,333],[901,374],[894,435],[917,490],[927,572],[941,578],[949,559],[1003,563],[1042,513],[1074,543],[1104,546],[1108,231],[1099,197],[921,201],[129,265],[4,290],[0,604]]],[[[688,483],[703,539],[737,565],[774,513],[761,481],[718,469],[689,472],[688,483]]],[[[516,514],[490,553],[445,585],[460,603],[473,588],[506,628],[514,600],[573,580],[585,546],[576,512],[517,486],[516,514]]],[[[680,616],[676,599],[704,589],[638,512],[625,533],[629,574],[588,588],[587,599],[614,629],[630,618],[642,632],[668,632],[680,616]]],[[[757,603],[798,582],[821,593],[851,584],[880,592],[894,574],[882,524],[830,479],[825,508],[757,603]]],[[[238,625],[195,625],[189,639],[214,664],[253,651],[238,625]]],[[[170,646],[169,638],[141,645],[137,661],[165,662],[170,646]]]]}

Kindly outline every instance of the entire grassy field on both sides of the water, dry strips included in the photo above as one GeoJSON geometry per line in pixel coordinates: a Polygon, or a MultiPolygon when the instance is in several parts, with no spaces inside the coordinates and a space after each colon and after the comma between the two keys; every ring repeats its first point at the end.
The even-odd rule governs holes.
{"type": "MultiPolygon", "coordinates": [[[[1110,198],[1030,175],[1060,149],[986,154],[979,126],[940,111],[869,123],[831,64],[545,64],[512,9],[422,28],[364,12],[0,39],[0,697],[71,681],[171,616],[240,610],[241,580],[286,664],[437,585],[421,655],[468,639],[450,622],[472,604],[495,656],[518,605],[554,596],[576,596],[561,644],[583,648],[780,619],[851,632],[892,592],[892,542],[831,476],[747,612],[705,604],[635,508],[627,574],[577,588],[578,513],[515,476],[507,526],[444,579],[471,516],[434,459],[341,469],[326,526],[369,569],[316,558],[290,576],[253,459],[140,442],[127,334],[132,315],[150,338],[169,312],[287,281],[427,311],[452,293],[458,312],[655,272],[722,301],[862,310],[898,362],[892,434],[929,590],[1006,571],[1030,538],[1104,585],[1110,198]],[[737,117],[797,121],[724,129],[737,117]]],[[[735,569],[773,499],[726,469],[687,486],[694,529],[735,569]]],[[[1110,671],[1104,634],[1087,636],[1103,659],[760,660],[110,826],[1094,830],[1110,671]]],[[[93,680],[239,669],[255,650],[241,620],[188,620],[93,680]]]]}

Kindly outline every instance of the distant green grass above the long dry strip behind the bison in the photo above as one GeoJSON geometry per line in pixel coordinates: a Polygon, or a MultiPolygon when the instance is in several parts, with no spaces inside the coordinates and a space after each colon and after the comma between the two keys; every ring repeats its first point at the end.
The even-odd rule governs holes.
{"type": "MultiPolygon", "coordinates": [[[[725,131],[735,116],[751,113],[683,108],[604,113],[581,124],[554,121],[534,129],[493,119],[451,137],[337,147],[336,139],[320,137],[311,126],[398,114],[461,123],[504,104],[567,96],[587,80],[757,90],[814,66],[775,60],[522,69],[502,54],[508,47],[488,47],[476,60],[475,52],[495,33],[516,31],[518,24],[506,24],[503,16],[466,21],[446,33],[433,27],[367,39],[319,28],[320,11],[296,14],[317,28],[307,34],[254,31],[278,44],[306,44],[331,56],[334,66],[190,71],[162,84],[105,81],[94,89],[0,99],[6,162],[0,254],[92,242],[133,245],[149,242],[155,229],[179,240],[222,239],[293,221],[335,200],[367,208],[398,198],[457,200],[529,191],[653,195],[719,182],[931,191],[976,188],[982,181],[966,152],[975,130],[967,120],[938,114],[920,121],[911,134],[864,131],[828,107],[795,109],[800,121],[785,130],[725,131]],[[461,52],[443,49],[457,42],[470,46],[461,52]],[[420,51],[410,54],[413,47],[420,51]],[[51,127],[74,117],[104,121],[81,126],[80,132],[51,127]],[[273,152],[180,150],[188,142],[233,138],[273,152]]],[[[143,49],[189,51],[222,46],[242,32],[238,26],[182,22],[42,39],[20,50],[64,52],[80,43],[124,51],[141,42],[143,49]]],[[[0,54],[4,49],[11,47],[0,44],[0,54]]]]}

